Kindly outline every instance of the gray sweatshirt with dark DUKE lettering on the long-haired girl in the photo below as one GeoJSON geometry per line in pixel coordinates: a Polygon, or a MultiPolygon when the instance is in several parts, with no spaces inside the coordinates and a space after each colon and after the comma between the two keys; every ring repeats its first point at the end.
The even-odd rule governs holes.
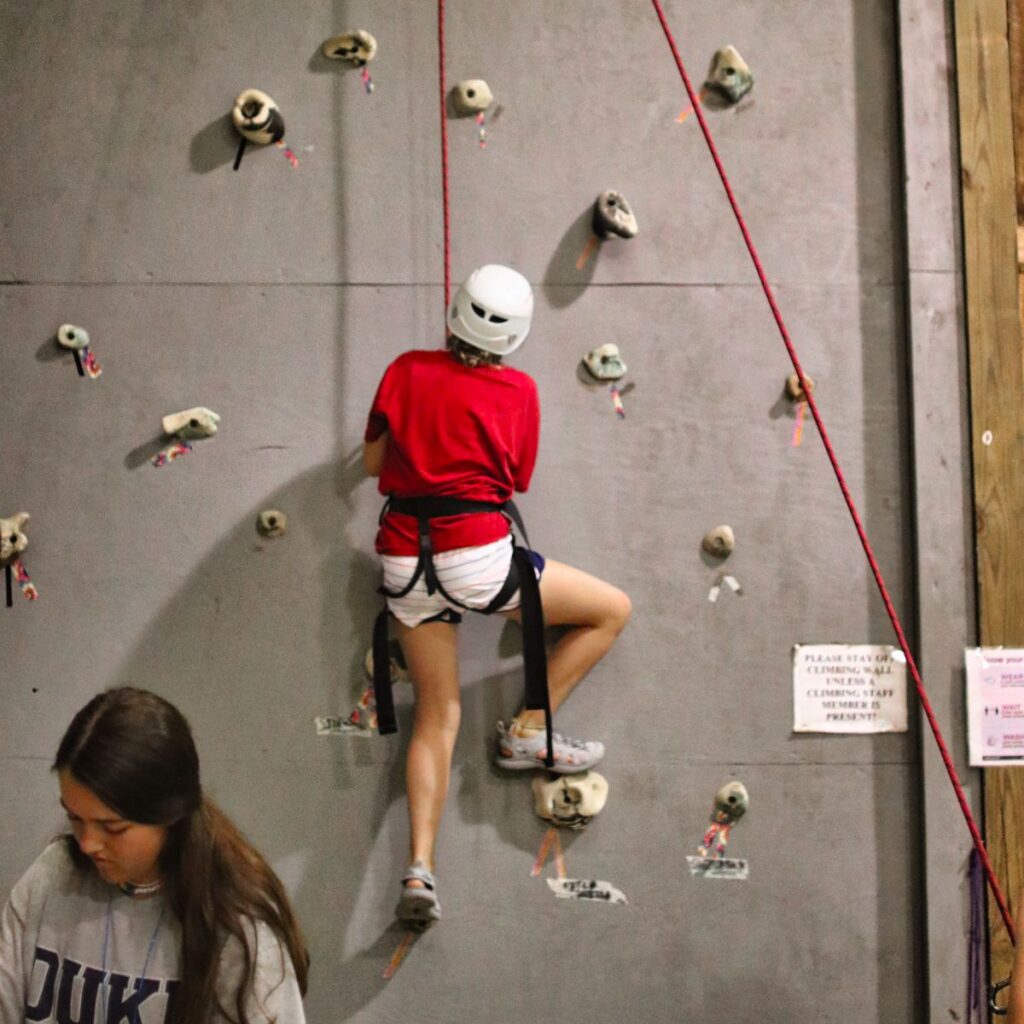
{"type": "MultiPolygon", "coordinates": [[[[263,922],[252,926],[253,1024],[305,1024],[292,962],[263,922]]],[[[81,871],[51,843],[14,886],[0,919],[0,1024],[164,1024],[179,977],[181,933],[164,898],[132,899],[81,871]],[[137,1014],[137,1016],[135,1016],[137,1014]]],[[[225,942],[217,988],[233,1008],[242,944],[225,942]]]]}

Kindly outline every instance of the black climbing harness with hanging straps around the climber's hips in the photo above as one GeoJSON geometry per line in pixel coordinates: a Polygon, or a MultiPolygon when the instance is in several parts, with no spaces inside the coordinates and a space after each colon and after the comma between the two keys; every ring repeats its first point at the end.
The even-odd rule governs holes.
{"type": "MultiPolygon", "coordinates": [[[[413,577],[401,590],[388,590],[381,586],[379,593],[385,597],[404,597],[424,578],[427,593],[441,594],[452,604],[467,611],[478,610],[489,615],[508,604],[515,592],[520,591],[520,617],[522,621],[522,668],[525,681],[527,711],[543,711],[547,733],[547,757],[544,763],[551,768],[554,761],[554,737],[551,726],[551,699],[548,693],[548,656],[544,648],[544,608],[541,605],[541,588],[537,582],[534,560],[530,557],[529,538],[522,516],[512,501],[473,502],[461,498],[394,498],[387,500],[381,510],[383,521],[388,512],[414,516],[420,541],[419,559],[413,577]],[[467,608],[452,597],[441,586],[434,569],[434,552],[430,543],[430,520],[441,516],[467,515],[479,512],[500,512],[519,530],[525,547],[514,545],[509,574],[494,599],[485,608],[467,608]]],[[[377,729],[381,735],[398,731],[391,693],[391,674],[388,657],[388,610],[385,607],[374,624],[374,693],[377,698],[377,729]]]]}

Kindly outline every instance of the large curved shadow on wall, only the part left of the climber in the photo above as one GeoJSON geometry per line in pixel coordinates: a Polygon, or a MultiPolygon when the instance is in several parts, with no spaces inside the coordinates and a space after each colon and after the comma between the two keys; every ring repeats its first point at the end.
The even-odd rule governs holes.
{"type": "MultiPolygon", "coordinates": [[[[187,466],[160,472],[184,473],[187,466]]],[[[376,558],[350,548],[345,521],[351,492],[364,478],[361,466],[348,460],[268,494],[184,581],[117,681],[178,705],[193,723],[205,777],[218,796],[225,794],[225,810],[270,859],[301,861],[289,883],[319,969],[313,988],[331,989],[341,1019],[384,984],[380,973],[393,952],[390,928],[347,959],[341,947],[378,834],[403,791],[396,743],[317,737],[313,730],[315,715],[347,714],[366,684],[379,568],[376,558]],[[257,534],[262,508],[287,512],[284,538],[257,534]],[[360,808],[359,820],[322,821],[316,828],[322,809],[332,805],[360,808]],[[370,963],[360,967],[364,961],[370,963]],[[345,973],[340,989],[331,981],[336,970],[345,973]]],[[[408,737],[408,689],[397,696],[406,700],[399,720],[408,737]]],[[[389,878],[398,869],[397,861],[389,864],[389,878]]],[[[390,906],[375,916],[388,920],[390,906]]]]}

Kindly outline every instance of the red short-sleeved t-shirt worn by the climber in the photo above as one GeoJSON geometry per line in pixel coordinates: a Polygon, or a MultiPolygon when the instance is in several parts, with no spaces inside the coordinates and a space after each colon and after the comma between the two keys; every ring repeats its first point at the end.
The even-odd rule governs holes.
{"type": "MultiPolygon", "coordinates": [[[[412,351],[384,372],[366,439],[388,431],[382,495],[505,502],[525,490],[537,461],[537,385],[505,366],[463,366],[451,352],[412,351]]],[[[500,512],[432,519],[434,551],[476,547],[509,532],[500,512]]],[[[413,516],[389,512],[377,535],[384,555],[415,555],[413,516]]]]}

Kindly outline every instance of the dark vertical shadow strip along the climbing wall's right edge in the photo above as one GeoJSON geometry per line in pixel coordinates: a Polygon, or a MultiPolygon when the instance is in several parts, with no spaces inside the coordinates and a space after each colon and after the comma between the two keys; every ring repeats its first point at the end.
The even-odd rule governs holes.
{"type": "MultiPolygon", "coordinates": [[[[913,628],[915,567],[908,528],[912,510],[909,482],[911,474],[908,469],[912,453],[905,443],[894,444],[890,436],[890,431],[893,429],[897,437],[910,436],[910,411],[908,402],[903,397],[910,392],[908,336],[904,308],[906,241],[903,236],[905,224],[903,167],[896,156],[900,144],[899,83],[895,71],[897,61],[891,58],[892,54],[899,52],[899,12],[888,5],[877,6],[870,3],[853,4],[852,10],[855,18],[852,39],[856,69],[855,131],[858,155],[857,255],[863,353],[861,392],[864,396],[862,443],[866,469],[862,511],[869,536],[876,531],[881,532],[894,518],[897,519],[894,548],[898,560],[888,571],[896,580],[906,581],[902,593],[895,595],[894,599],[907,629],[909,642],[916,649],[918,637],[913,628]],[[883,6],[886,9],[883,9],[883,6]],[[884,70],[881,75],[880,68],[884,70]],[[880,112],[884,114],[882,123],[888,135],[885,142],[880,142],[879,138],[880,112]],[[887,145],[886,142],[891,144],[887,145]],[[883,159],[879,159],[880,156],[883,159]],[[880,197],[886,197],[888,202],[880,203],[880,197]],[[888,250],[880,247],[880,238],[888,239],[888,250]],[[892,290],[891,301],[885,295],[886,288],[892,290]],[[878,302],[880,297],[881,303],[878,302]],[[891,310],[881,338],[874,337],[871,330],[879,323],[878,307],[891,310]],[[871,327],[868,328],[867,325],[871,327]],[[895,410],[895,423],[892,423],[890,417],[876,415],[878,408],[876,396],[880,392],[885,396],[885,404],[895,410]],[[887,458],[888,465],[884,461],[887,458]],[[892,479],[896,480],[893,488],[888,484],[888,480],[892,479]]],[[[950,137],[954,138],[955,134],[950,137]]],[[[965,521],[969,523],[970,516],[965,521]]],[[[873,618],[873,615],[881,611],[882,602],[873,588],[868,593],[873,618]]],[[[892,630],[887,622],[884,627],[879,628],[876,635],[878,642],[889,642],[892,630]]],[[[895,642],[895,639],[892,642],[895,642]]],[[[913,699],[912,688],[908,700],[911,702],[908,719],[912,734],[920,727],[920,716],[913,714],[916,701],[913,699]]],[[[878,835],[883,835],[883,829],[886,827],[887,806],[892,803],[893,794],[887,792],[883,766],[876,765],[872,774],[876,826],[878,835]]],[[[920,823],[921,788],[908,785],[907,790],[907,793],[900,795],[905,801],[907,819],[920,823]]],[[[908,847],[913,862],[918,864],[922,862],[919,841],[923,835],[924,828],[920,824],[918,827],[913,825],[908,827],[908,847]]],[[[880,891],[898,892],[900,871],[897,865],[889,863],[884,855],[885,844],[879,843],[874,849],[880,891]]],[[[900,956],[883,957],[879,970],[880,1006],[886,999],[891,1001],[894,992],[904,993],[907,1007],[899,1015],[900,1019],[909,1019],[914,1007],[927,1004],[924,984],[927,972],[924,946],[920,941],[920,937],[925,935],[926,890],[924,872],[919,871],[916,876],[921,880],[916,891],[909,894],[909,898],[903,903],[907,908],[906,918],[900,920],[890,912],[879,915],[880,948],[908,951],[906,961],[900,956]],[[907,978],[912,979],[909,984],[907,978]]],[[[897,1008],[893,1008],[893,1013],[894,1015],[899,1013],[897,1008]]]]}

